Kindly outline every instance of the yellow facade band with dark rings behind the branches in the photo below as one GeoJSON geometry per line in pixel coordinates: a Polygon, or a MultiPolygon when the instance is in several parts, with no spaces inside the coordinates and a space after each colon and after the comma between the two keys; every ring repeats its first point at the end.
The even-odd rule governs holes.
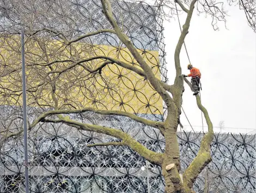
{"type": "MultiPolygon", "coordinates": [[[[99,73],[88,73],[105,60],[96,59],[74,66],[74,62],[56,60],[82,60],[93,56],[109,56],[140,68],[127,48],[75,43],[64,46],[59,41],[26,41],[26,74],[28,105],[53,107],[52,89],[61,108],[92,106],[99,109],[120,110],[131,113],[162,114],[163,101],[142,76],[116,64],[108,64],[99,73]],[[73,66],[72,66],[73,65],[73,66]],[[63,70],[66,69],[66,70],[63,70]],[[48,75],[47,73],[52,73],[48,75]],[[39,86],[40,85],[40,86],[39,86]]],[[[160,79],[159,54],[139,50],[143,59],[160,79]]],[[[0,105],[21,105],[21,53],[20,38],[0,38],[0,105]],[[15,91],[15,92],[14,92],[15,91]],[[19,91],[19,92],[17,92],[19,91]]],[[[141,68],[140,68],[141,69],[141,68]]]]}

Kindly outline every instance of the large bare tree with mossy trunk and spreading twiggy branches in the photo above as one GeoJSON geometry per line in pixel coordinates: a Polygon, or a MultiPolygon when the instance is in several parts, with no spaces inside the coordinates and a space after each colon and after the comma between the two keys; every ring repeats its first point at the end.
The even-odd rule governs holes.
{"type": "MultiPolygon", "coordinates": [[[[202,139],[197,156],[182,174],[183,180],[181,181],[179,175],[179,144],[176,131],[180,124],[184,80],[190,87],[191,85],[182,76],[180,51],[188,34],[194,7],[197,6],[198,12],[205,12],[211,15],[212,25],[214,29],[217,29],[216,21],[225,21],[226,12],[222,9],[223,3],[198,0],[185,1],[183,3],[176,0],[182,11],[186,12],[187,17],[186,22],[182,25],[181,35],[174,53],[175,80],[173,85],[169,85],[161,81],[159,68],[154,68],[154,62],[150,61],[151,59],[154,60],[156,56],[151,53],[151,58],[149,59],[145,56],[145,53],[136,48],[131,34],[128,34],[127,29],[123,28],[122,18],[117,18],[113,14],[109,0],[101,0],[99,2],[101,4],[100,9],[107,22],[104,28],[101,29],[99,27],[99,30],[91,31],[87,34],[83,34],[83,30],[80,29],[80,32],[82,30],[82,35],[81,33],[77,35],[72,30],[74,28],[72,24],[75,23],[75,17],[72,17],[74,12],[65,7],[65,1],[59,3],[56,1],[24,1],[23,3],[27,5],[26,7],[23,7],[21,2],[17,3],[14,0],[3,2],[1,15],[2,19],[8,22],[1,26],[1,47],[4,50],[2,51],[2,68],[4,70],[2,70],[1,75],[3,82],[1,83],[2,105],[12,107],[13,111],[16,111],[15,106],[21,105],[21,68],[17,66],[20,60],[20,40],[16,34],[19,34],[19,31],[23,28],[26,30],[27,35],[28,106],[36,107],[36,110],[33,108],[33,112],[31,112],[33,120],[28,120],[28,130],[38,130],[45,123],[63,123],[70,127],[75,127],[77,130],[115,137],[119,141],[99,143],[94,144],[94,146],[129,146],[149,162],[161,166],[162,175],[166,183],[166,193],[194,192],[192,190],[194,181],[205,166],[211,162],[210,144],[214,137],[214,131],[208,111],[201,104],[199,95],[196,95],[198,108],[203,112],[208,125],[208,132],[202,139]],[[185,8],[185,4],[189,8],[185,8]],[[40,9],[37,7],[40,7],[40,9]],[[51,15],[51,18],[56,17],[56,21],[48,20],[47,14],[51,15]],[[36,22],[39,24],[35,25],[36,22]],[[67,27],[70,28],[68,29],[67,27]],[[103,52],[104,47],[95,46],[94,43],[97,40],[93,37],[98,37],[102,34],[106,36],[112,34],[117,38],[115,54],[111,52],[106,54],[103,52]],[[132,62],[120,59],[120,55],[124,54],[120,50],[131,54],[132,62]],[[7,61],[7,56],[11,57],[10,62],[5,62],[7,61]],[[109,77],[112,65],[119,71],[123,70],[124,74],[131,72],[134,75],[135,78],[132,81],[127,81],[131,85],[135,82],[136,77],[140,77],[147,82],[145,87],[152,89],[155,92],[153,94],[154,97],[161,98],[164,102],[167,110],[164,120],[154,121],[139,116],[139,110],[135,111],[135,104],[132,107],[125,106],[123,101],[112,104],[115,97],[126,95],[120,84],[111,81],[111,77],[109,77]],[[106,93],[112,97],[112,100],[100,97],[106,93],[104,89],[97,89],[99,86],[107,89],[106,93]],[[83,93],[83,91],[87,91],[87,93],[83,93]],[[81,93],[83,95],[80,95],[81,93]],[[165,138],[165,150],[163,153],[151,151],[132,138],[129,133],[117,128],[95,124],[92,120],[93,116],[90,117],[90,123],[84,123],[74,117],[75,114],[84,118],[86,117],[86,114],[84,115],[86,112],[93,112],[99,115],[120,115],[152,129],[155,128],[165,138]]],[[[165,7],[170,8],[172,11],[174,10],[174,2],[156,1],[155,5],[159,8],[157,13],[160,15],[165,13],[163,12],[165,7]]],[[[245,10],[249,25],[255,30],[253,3],[239,1],[239,5],[245,10]]],[[[83,14],[81,7],[79,10],[81,11],[80,14],[83,14]]],[[[92,18],[89,18],[88,21],[92,21],[92,18]]],[[[98,45],[100,43],[97,42],[98,45]]],[[[119,74],[121,77],[122,74],[119,74]]],[[[134,87],[133,89],[136,92],[136,88],[134,87]]],[[[4,128],[3,130],[1,128],[1,132],[5,135],[4,139],[22,133],[22,126],[10,128],[12,124],[13,121],[8,124],[2,124],[4,128]]]]}

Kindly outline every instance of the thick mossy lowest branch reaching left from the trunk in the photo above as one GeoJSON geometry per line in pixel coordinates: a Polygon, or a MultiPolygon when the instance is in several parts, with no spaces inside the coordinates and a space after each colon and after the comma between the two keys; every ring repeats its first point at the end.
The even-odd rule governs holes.
{"type": "Polygon", "coordinates": [[[45,119],[45,122],[65,123],[70,126],[75,126],[76,128],[79,128],[81,130],[107,134],[108,136],[122,139],[124,145],[129,146],[132,150],[136,151],[139,155],[149,160],[149,162],[157,165],[161,165],[162,163],[162,159],[163,159],[162,153],[156,153],[154,151],[148,150],[145,146],[143,146],[141,143],[139,143],[137,140],[133,139],[129,134],[124,133],[123,131],[116,130],[114,128],[105,127],[105,126],[80,123],[78,121],[69,119],[69,117],[65,117],[64,119],[57,119],[57,120],[45,119]]]}

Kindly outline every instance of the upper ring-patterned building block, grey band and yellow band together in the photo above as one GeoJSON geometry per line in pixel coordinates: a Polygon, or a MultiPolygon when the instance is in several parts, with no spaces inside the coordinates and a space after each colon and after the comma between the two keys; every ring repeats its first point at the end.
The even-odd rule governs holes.
{"type": "MultiPolygon", "coordinates": [[[[166,82],[162,19],[157,15],[155,8],[142,2],[111,2],[117,23],[153,69],[156,77],[166,82]]],[[[0,2],[0,18],[3,21],[0,23],[0,82],[5,81],[3,92],[0,93],[0,105],[19,106],[22,103],[20,92],[13,94],[13,91],[21,91],[21,69],[17,69],[21,54],[19,49],[13,49],[20,46],[20,41],[19,37],[10,35],[16,34],[21,28],[24,28],[27,34],[25,42],[26,70],[29,72],[27,88],[33,90],[27,93],[27,98],[31,106],[52,107],[52,100],[49,100],[52,76],[47,75],[49,70],[47,66],[38,66],[38,63],[48,63],[40,46],[35,46],[38,40],[42,41],[41,44],[46,44],[45,49],[50,53],[48,54],[50,61],[70,60],[70,58],[79,61],[88,57],[109,56],[140,68],[129,50],[113,33],[89,36],[66,48],[60,43],[57,35],[45,32],[45,29],[59,31],[68,40],[74,40],[97,30],[112,29],[102,13],[100,0],[3,0],[0,2]],[[38,34],[34,32],[40,30],[44,32],[38,34]],[[29,36],[32,32],[34,35],[29,36]],[[4,35],[5,33],[9,35],[4,35]],[[44,82],[43,86],[37,87],[41,82],[44,82]]],[[[103,62],[106,60],[95,59],[84,64],[95,69],[103,62]]],[[[74,65],[74,62],[62,62],[53,67],[54,70],[61,71],[71,65],[74,65]]],[[[59,106],[63,108],[91,106],[104,110],[164,114],[162,99],[147,79],[120,67],[117,63],[108,64],[101,72],[88,75],[87,70],[75,65],[63,73],[56,73],[56,97],[59,106]],[[69,106],[66,107],[66,104],[69,106]]]]}

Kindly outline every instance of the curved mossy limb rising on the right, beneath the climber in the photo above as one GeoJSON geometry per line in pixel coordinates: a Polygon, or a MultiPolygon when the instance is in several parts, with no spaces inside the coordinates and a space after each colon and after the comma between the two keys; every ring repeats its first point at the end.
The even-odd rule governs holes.
{"type": "MultiPolygon", "coordinates": [[[[191,83],[188,82],[186,78],[184,80],[188,83],[188,86],[192,89],[191,83]]],[[[185,189],[188,191],[192,188],[194,181],[200,172],[208,165],[212,158],[210,154],[210,144],[212,139],[214,139],[214,129],[206,108],[201,104],[200,96],[196,95],[197,106],[204,113],[206,123],[208,125],[208,133],[206,133],[201,141],[199,152],[197,156],[193,159],[192,163],[185,170],[183,179],[185,189]]]]}

